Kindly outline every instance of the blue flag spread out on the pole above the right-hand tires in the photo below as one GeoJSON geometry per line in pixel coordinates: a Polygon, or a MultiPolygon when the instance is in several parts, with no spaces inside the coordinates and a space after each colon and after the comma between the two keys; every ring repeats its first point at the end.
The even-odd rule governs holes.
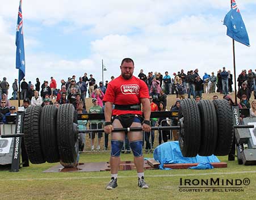
{"type": "Polygon", "coordinates": [[[246,46],[250,46],[245,23],[235,0],[232,0],[231,10],[225,16],[224,25],[227,27],[226,35],[246,46]]]}

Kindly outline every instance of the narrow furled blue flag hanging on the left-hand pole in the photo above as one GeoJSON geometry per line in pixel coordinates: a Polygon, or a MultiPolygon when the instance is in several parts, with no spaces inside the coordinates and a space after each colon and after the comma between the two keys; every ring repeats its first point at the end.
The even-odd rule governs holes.
{"type": "Polygon", "coordinates": [[[16,69],[19,69],[19,82],[25,76],[25,52],[23,39],[22,0],[19,2],[18,22],[16,27],[16,69]]]}

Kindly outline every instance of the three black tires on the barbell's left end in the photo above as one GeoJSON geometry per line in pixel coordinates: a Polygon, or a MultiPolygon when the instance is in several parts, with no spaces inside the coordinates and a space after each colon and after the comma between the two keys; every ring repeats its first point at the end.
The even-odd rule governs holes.
{"type": "Polygon", "coordinates": [[[31,106],[24,117],[24,143],[33,164],[78,164],[77,116],[72,104],[31,106]]]}

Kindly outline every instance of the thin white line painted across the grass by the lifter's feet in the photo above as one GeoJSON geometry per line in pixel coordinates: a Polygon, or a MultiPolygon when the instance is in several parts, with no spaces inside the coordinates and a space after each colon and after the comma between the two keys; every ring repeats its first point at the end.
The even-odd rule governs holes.
{"type": "MultiPolygon", "coordinates": [[[[146,177],[184,177],[184,176],[205,176],[205,175],[236,175],[240,173],[256,173],[256,171],[244,172],[213,172],[213,173],[188,173],[187,175],[146,175],[146,177]]],[[[137,176],[119,176],[118,178],[137,177],[137,176]]],[[[78,179],[98,179],[110,178],[110,176],[84,176],[84,177],[58,177],[58,178],[8,178],[0,179],[0,181],[51,181],[51,180],[78,180],[78,179]]]]}

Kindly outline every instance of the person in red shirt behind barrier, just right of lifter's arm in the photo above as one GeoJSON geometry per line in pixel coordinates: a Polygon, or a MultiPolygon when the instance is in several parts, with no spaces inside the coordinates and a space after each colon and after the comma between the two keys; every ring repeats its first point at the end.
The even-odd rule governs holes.
{"type": "MultiPolygon", "coordinates": [[[[149,100],[150,100],[151,112],[158,111],[158,106],[157,106],[157,104],[155,104],[153,102],[152,95],[149,96],[149,100]]],[[[151,123],[152,127],[156,126],[156,122],[157,122],[157,118],[150,119],[150,123],[151,123]]],[[[148,151],[152,150],[152,148],[154,146],[154,130],[152,130],[151,132],[145,132],[145,141],[146,141],[146,150],[148,150],[148,151]],[[150,136],[151,136],[151,142],[149,141],[150,136]]]]}

